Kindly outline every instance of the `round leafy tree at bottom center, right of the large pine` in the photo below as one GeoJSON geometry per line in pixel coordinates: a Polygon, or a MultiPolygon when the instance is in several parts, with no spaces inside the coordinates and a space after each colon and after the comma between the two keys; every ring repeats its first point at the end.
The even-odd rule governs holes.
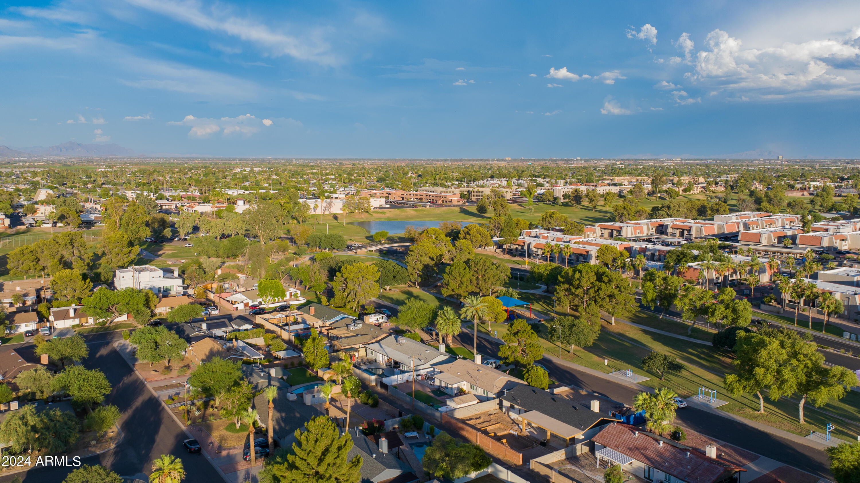
{"type": "Polygon", "coordinates": [[[436,478],[456,480],[486,469],[493,461],[484,450],[472,443],[460,443],[446,432],[433,438],[421,461],[427,473],[436,478]]]}

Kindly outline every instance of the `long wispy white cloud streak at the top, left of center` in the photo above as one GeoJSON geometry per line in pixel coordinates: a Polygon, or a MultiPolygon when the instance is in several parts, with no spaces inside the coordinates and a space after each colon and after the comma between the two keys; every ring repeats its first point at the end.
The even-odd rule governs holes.
{"type": "Polygon", "coordinates": [[[317,64],[339,64],[330,52],[327,41],[322,40],[322,30],[294,36],[255,21],[249,17],[233,15],[224,4],[205,8],[194,1],[170,2],[169,0],[127,0],[143,9],[148,9],[175,21],[181,21],[202,30],[227,34],[255,44],[272,57],[290,56],[317,64]]]}

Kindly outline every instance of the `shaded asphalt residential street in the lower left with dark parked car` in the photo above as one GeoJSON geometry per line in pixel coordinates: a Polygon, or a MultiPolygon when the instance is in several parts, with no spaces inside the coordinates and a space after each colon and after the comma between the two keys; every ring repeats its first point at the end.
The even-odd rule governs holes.
{"type": "MultiPolygon", "coordinates": [[[[163,454],[172,454],[182,459],[186,473],[193,481],[218,483],[223,481],[203,455],[189,455],[182,449],[185,432],[170,417],[162,404],[144,386],[144,382],[132,372],[125,359],[114,349],[113,343],[120,333],[99,333],[84,336],[89,344],[89,358],[83,361],[88,369],[104,371],[114,387],[107,395],[107,403],[120,408],[120,429],[125,433],[114,449],[83,460],[84,464],[101,464],[123,476],[151,473],[151,461],[163,454]]],[[[21,345],[20,351],[32,351],[33,345],[21,345]]],[[[34,468],[26,474],[0,478],[7,483],[21,476],[24,483],[59,482],[74,468],[34,468]]]]}

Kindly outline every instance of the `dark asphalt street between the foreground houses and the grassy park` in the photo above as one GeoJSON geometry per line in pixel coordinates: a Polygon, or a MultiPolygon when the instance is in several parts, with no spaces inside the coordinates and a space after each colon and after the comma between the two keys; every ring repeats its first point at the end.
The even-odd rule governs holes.
{"type": "MultiPolygon", "coordinates": [[[[457,339],[458,344],[472,347],[472,335],[461,334],[457,339]]],[[[478,353],[494,356],[499,352],[501,344],[494,341],[478,338],[478,353]]],[[[562,384],[574,384],[577,387],[593,391],[612,400],[632,404],[633,397],[638,391],[624,384],[607,381],[598,376],[592,376],[580,371],[572,370],[567,366],[556,364],[549,358],[543,358],[540,364],[544,364],[550,371],[552,378],[562,384]]],[[[817,474],[832,480],[829,473],[830,465],[824,451],[813,449],[804,444],[795,443],[776,437],[765,431],[759,431],[751,426],[741,424],[732,419],[722,418],[714,414],[685,407],[679,410],[677,420],[693,431],[704,435],[715,437],[726,443],[734,444],[740,448],[749,449],[759,455],[767,456],[777,462],[784,462],[793,467],[800,468],[812,474],[817,474]]]]}

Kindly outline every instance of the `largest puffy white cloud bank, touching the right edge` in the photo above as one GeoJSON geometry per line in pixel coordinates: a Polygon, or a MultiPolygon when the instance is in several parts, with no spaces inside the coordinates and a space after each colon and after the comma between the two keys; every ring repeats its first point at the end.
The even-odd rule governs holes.
{"type": "Polygon", "coordinates": [[[712,88],[759,91],[761,98],[860,95],[860,28],[841,38],[808,40],[763,49],[741,48],[716,29],[693,59],[691,80],[712,88]]]}

